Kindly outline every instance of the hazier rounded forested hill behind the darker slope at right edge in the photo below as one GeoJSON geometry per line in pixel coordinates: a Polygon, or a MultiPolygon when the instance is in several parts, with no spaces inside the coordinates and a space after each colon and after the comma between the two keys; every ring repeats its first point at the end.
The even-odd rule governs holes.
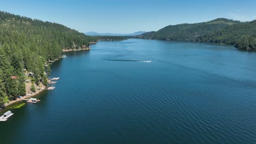
{"type": "Polygon", "coordinates": [[[211,31],[241,23],[228,19],[216,19],[201,23],[184,23],[181,25],[170,25],[160,29],[157,32],[148,32],[138,35],[136,38],[143,39],[160,39],[160,40],[195,40],[200,35],[207,34],[211,31]]]}

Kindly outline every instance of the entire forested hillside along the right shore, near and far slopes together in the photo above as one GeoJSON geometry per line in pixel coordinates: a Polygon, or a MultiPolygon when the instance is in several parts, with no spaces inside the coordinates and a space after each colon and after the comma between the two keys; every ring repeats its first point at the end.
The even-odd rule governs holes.
{"type": "Polygon", "coordinates": [[[239,49],[255,50],[256,20],[239,22],[221,18],[202,23],[185,23],[167,26],[157,32],[144,33],[135,38],[231,44],[239,49]]]}

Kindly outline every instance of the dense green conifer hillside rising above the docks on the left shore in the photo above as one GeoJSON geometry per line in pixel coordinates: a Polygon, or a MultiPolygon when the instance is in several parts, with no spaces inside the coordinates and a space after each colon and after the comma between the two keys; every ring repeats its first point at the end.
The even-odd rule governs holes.
{"type": "Polygon", "coordinates": [[[59,58],[63,48],[88,47],[93,39],[57,23],[0,11],[0,104],[26,93],[24,69],[34,74],[36,85],[46,85],[46,62],[59,58]]]}

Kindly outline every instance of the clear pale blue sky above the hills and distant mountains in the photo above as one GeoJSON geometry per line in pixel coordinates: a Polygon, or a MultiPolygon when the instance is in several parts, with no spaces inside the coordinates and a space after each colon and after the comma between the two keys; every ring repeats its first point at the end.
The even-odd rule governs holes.
{"type": "Polygon", "coordinates": [[[61,23],[79,32],[132,33],[157,31],[167,25],[210,21],[218,17],[255,20],[256,0],[0,0],[0,10],[61,23]]]}

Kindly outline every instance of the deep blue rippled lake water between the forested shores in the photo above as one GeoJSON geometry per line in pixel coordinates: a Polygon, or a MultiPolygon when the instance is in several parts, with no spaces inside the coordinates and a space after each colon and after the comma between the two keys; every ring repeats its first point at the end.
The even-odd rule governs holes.
{"type": "Polygon", "coordinates": [[[254,52],[129,39],[65,54],[0,143],[256,143],[254,52]]]}

